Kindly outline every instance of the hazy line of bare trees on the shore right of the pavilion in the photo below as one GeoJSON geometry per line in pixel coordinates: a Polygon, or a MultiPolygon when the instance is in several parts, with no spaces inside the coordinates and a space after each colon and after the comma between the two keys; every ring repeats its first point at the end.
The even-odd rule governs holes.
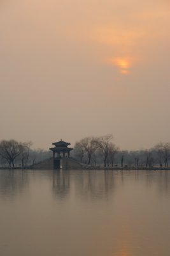
{"type": "Polygon", "coordinates": [[[73,156],[85,164],[103,164],[121,168],[169,167],[170,143],[158,143],[145,150],[120,150],[113,143],[111,134],[100,137],[86,137],[76,142],[73,156]]]}

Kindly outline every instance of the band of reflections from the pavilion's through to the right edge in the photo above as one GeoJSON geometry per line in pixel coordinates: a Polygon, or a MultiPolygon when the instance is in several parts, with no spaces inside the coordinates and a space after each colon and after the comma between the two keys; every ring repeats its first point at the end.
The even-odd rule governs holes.
{"type": "Polygon", "coordinates": [[[54,171],[52,176],[53,195],[66,198],[74,190],[74,195],[83,200],[97,200],[112,196],[117,189],[134,181],[143,183],[147,189],[155,189],[159,194],[170,195],[169,172],[160,171],[54,171]],[[133,179],[134,178],[134,179],[133,179]]]}

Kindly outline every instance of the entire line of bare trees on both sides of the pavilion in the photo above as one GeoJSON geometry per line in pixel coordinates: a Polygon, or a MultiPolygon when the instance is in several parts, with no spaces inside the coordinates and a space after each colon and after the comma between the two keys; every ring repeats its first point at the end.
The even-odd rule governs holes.
{"type": "MultiPolygon", "coordinates": [[[[50,150],[32,149],[32,142],[16,140],[0,141],[0,165],[27,168],[44,159],[52,157],[50,150]]],[[[120,150],[113,143],[113,135],[89,136],[77,141],[71,151],[76,161],[93,166],[121,168],[168,168],[170,162],[170,143],[158,143],[145,150],[120,150]]]]}

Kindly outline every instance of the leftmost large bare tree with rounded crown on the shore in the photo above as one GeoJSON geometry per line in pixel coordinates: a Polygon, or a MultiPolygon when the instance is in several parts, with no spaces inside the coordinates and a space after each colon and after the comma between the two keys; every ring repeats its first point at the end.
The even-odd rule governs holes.
{"type": "Polygon", "coordinates": [[[0,154],[1,157],[6,159],[10,168],[11,166],[14,168],[15,159],[22,154],[24,151],[24,146],[22,143],[16,140],[2,140],[0,142],[0,154]]]}

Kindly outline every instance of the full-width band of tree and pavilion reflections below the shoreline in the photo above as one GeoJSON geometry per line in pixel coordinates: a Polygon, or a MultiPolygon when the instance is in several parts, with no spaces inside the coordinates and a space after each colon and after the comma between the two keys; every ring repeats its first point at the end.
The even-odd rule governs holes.
{"type": "Polygon", "coordinates": [[[71,191],[81,199],[96,200],[113,195],[117,189],[124,188],[128,182],[143,183],[146,189],[155,189],[159,195],[170,196],[169,171],[0,171],[0,195],[16,196],[29,188],[30,180],[46,180],[52,184],[54,196],[66,198],[71,191]],[[134,178],[134,179],[133,179],[134,178]],[[134,180],[134,181],[133,181],[134,180]]]}

